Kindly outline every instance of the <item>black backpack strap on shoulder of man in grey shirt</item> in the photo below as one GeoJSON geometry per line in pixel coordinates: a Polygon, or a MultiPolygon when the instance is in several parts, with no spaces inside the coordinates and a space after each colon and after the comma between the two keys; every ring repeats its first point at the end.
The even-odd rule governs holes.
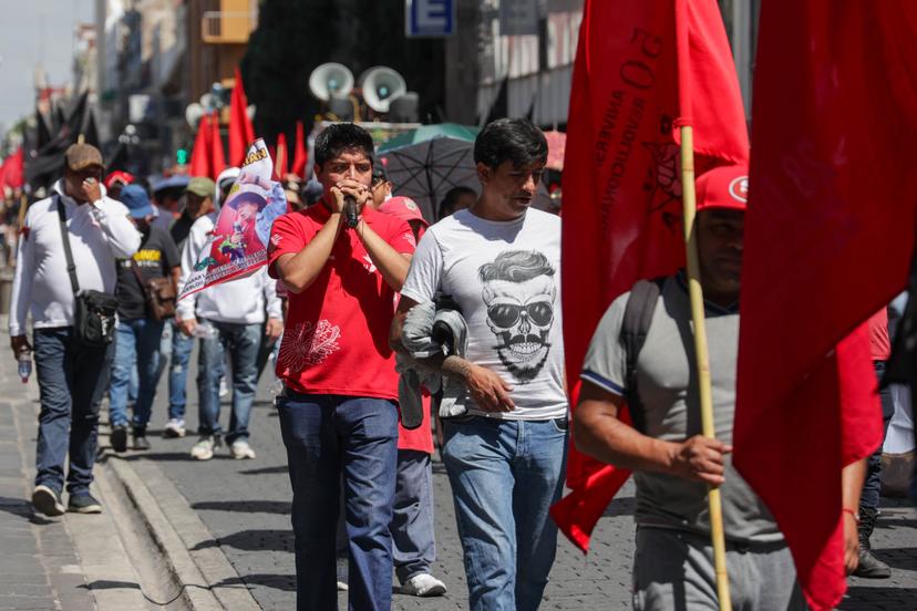
{"type": "Polygon", "coordinates": [[[630,418],[633,427],[646,433],[646,417],[643,405],[640,402],[640,394],[637,392],[637,359],[647,341],[652,314],[656,312],[656,304],[662,292],[664,278],[652,280],[639,280],[630,289],[630,297],[625,307],[624,320],[621,321],[620,342],[627,354],[627,371],[625,373],[625,400],[630,407],[630,418]]]}

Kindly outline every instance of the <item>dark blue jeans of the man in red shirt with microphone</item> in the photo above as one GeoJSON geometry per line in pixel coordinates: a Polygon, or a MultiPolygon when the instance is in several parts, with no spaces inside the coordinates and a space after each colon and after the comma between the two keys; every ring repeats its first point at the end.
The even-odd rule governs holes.
{"type": "Polygon", "coordinates": [[[337,609],[334,539],[343,484],[349,607],[388,611],[398,458],[394,402],[287,389],[277,397],[277,408],[293,493],[297,610],[337,609]]]}

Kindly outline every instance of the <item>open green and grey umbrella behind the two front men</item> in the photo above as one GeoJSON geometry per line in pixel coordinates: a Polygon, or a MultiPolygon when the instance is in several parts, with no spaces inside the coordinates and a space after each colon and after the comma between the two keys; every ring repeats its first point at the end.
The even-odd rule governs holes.
{"type": "Polygon", "coordinates": [[[399,134],[379,147],[395,195],[416,201],[431,222],[453,187],[480,190],[474,163],[476,127],[441,123],[399,134]]]}

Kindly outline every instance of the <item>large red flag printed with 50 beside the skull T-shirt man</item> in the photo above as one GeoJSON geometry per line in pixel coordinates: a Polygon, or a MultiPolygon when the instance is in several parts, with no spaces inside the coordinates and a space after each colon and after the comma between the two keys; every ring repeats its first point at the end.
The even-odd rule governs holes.
{"type": "MultiPolygon", "coordinates": [[[[679,120],[694,125],[699,172],[748,160],[744,110],[717,2],[587,0],[564,160],[564,342],[574,404],[586,349],[608,304],[637,280],[672,273],[684,260],[679,120]],[[690,97],[688,116],[681,105],[690,97]]],[[[573,491],[552,515],[581,549],[627,477],[570,448],[573,491]]]]}

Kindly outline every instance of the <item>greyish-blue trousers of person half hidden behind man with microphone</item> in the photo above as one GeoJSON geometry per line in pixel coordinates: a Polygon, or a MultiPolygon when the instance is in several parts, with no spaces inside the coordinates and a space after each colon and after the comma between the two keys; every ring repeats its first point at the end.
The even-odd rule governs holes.
{"type": "Polygon", "coordinates": [[[433,540],[433,469],[430,455],[415,449],[398,451],[392,558],[398,580],[429,573],[436,559],[433,540]]]}

